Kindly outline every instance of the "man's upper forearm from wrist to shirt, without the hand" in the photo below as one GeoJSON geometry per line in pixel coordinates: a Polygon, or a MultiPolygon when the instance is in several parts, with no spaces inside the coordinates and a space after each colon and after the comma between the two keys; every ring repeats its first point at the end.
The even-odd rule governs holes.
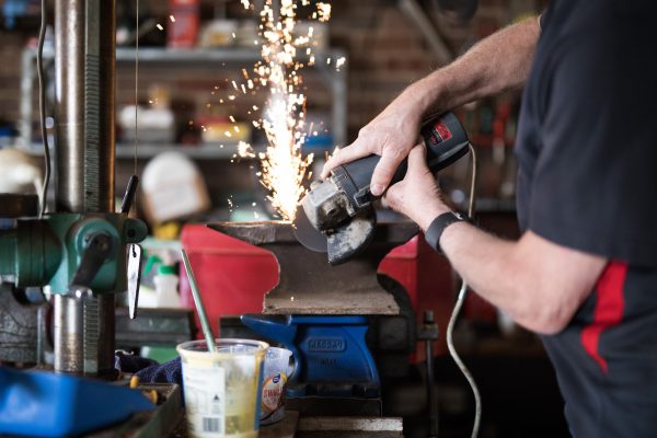
{"type": "Polygon", "coordinates": [[[538,18],[510,25],[406,89],[427,115],[525,85],[539,39],[538,18]]]}

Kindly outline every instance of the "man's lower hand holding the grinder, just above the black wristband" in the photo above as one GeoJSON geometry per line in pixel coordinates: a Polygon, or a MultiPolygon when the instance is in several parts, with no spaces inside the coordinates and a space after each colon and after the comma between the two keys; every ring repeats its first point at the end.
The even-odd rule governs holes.
{"type": "Polygon", "coordinates": [[[426,147],[416,145],[408,154],[408,170],[404,180],[388,189],[388,205],[410,217],[423,231],[439,215],[450,210],[442,201],[434,174],[426,164],[426,147]]]}

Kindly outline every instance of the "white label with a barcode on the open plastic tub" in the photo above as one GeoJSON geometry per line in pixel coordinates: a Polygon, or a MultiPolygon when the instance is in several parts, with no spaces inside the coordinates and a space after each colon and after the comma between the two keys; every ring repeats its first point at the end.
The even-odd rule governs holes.
{"type": "Polygon", "coordinates": [[[195,368],[183,360],[183,384],[189,436],[222,436],[226,415],[223,368],[195,368]]]}

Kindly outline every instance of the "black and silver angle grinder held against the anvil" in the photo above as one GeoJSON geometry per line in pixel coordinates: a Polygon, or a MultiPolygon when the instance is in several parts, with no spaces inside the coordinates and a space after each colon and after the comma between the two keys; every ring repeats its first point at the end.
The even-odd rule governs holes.
{"type": "MultiPolygon", "coordinates": [[[[427,148],[427,165],[436,173],[468,152],[463,126],[452,113],[429,118],[420,129],[427,148]]],[[[328,263],[338,265],[356,255],[372,240],[377,217],[370,180],[381,158],[377,154],[339,165],[323,182],[311,186],[295,219],[295,234],[306,247],[328,253],[328,263]]],[[[391,185],[403,180],[406,160],[396,170],[391,185]]]]}

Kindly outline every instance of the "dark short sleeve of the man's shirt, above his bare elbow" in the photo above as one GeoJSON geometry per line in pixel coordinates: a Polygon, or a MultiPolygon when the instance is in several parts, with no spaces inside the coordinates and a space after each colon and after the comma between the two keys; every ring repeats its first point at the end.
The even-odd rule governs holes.
{"type": "Polygon", "coordinates": [[[555,42],[528,228],[568,247],[657,266],[657,56],[647,20],[555,42]],[[645,25],[644,25],[645,24],[645,25]]]}

